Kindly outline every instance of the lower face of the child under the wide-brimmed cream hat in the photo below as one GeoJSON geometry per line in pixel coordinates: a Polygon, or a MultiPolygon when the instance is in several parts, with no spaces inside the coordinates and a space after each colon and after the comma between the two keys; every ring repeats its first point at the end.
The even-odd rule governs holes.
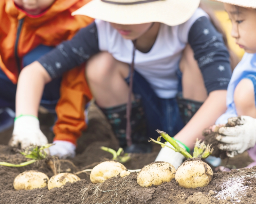
{"type": "Polygon", "coordinates": [[[143,23],[143,24],[135,24],[135,25],[122,25],[116,23],[110,23],[113,28],[115,28],[118,33],[122,35],[124,39],[127,40],[135,40],[146,33],[152,23],[143,23]]]}

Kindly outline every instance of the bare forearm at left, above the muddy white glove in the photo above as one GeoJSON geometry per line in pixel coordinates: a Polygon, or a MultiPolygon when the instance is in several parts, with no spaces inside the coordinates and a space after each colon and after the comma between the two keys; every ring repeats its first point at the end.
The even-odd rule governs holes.
{"type": "Polygon", "coordinates": [[[39,62],[33,62],[20,72],[16,92],[16,117],[38,114],[44,85],[51,77],[39,62]]]}

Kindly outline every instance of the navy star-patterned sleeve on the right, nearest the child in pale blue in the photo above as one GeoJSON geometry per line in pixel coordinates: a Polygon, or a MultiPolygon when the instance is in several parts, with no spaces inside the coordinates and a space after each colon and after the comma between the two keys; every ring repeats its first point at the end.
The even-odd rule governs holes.
{"type": "Polygon", "coordinates": [[[222,35],[208,18],[195,21],[188,33],[188,43],[194,50],[208,94],[226,90],[231,78],[229,53],[222,35]]]}

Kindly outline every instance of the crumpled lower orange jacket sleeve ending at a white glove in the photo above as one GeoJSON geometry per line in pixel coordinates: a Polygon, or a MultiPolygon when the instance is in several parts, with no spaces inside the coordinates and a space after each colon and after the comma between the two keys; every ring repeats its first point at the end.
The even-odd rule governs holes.
{"type": "Polygon", "coordinates": [[[87,128],[84,109],[92,94],[85,78],[85,65],[71,69],[63,75],[60,99],[56,106],[58,120],[54,125],[55,140],[76,144],[82,130],[87,128]]]}

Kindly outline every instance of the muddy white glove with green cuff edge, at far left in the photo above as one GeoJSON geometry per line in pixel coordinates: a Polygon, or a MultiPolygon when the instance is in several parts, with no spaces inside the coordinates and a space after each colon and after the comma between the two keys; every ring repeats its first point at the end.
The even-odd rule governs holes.
{"type": "MultiPolygon", "coordinates": [[[[9,145],[24,149],[32,144],[42,146],[48,143],[39,127],[39,120],[33,115],[21,115],[14,121],[14,129],[9,145]]],[[[45,149],[47,152],[47,149],[45,149]]]]}

